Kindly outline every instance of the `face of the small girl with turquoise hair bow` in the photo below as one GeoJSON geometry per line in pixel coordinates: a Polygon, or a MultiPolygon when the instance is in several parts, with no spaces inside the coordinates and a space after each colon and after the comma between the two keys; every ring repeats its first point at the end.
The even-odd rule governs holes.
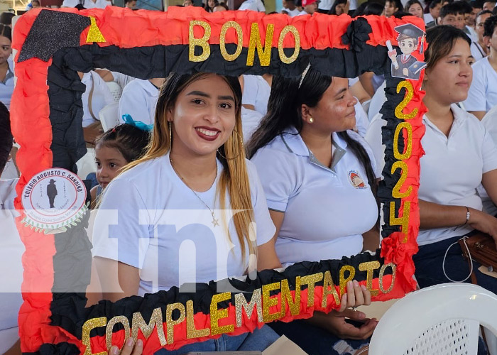
{"type": "Polygon", "coordinates": [[[95,149],[95,163],[97,163],[97,181],[104,189],[114,179],[119,169],[128,163],[117,148],[97,146],[95,149]]]}

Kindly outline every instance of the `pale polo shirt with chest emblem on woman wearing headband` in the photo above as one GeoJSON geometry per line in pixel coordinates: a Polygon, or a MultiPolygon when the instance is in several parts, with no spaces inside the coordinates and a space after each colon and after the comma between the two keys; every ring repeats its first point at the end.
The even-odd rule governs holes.
{"type": "MultiPolygon", "coordinates": [[[[261,178],[268,207],[285,212],[276,241],[284,265],[339,259],[361,253],[362,234],[378,218],[366,171],[333,133],[333,163],[327,168],[309,151],[295,128],[260,148],[252,161],[261,178]]],[[[359,141],[373,155],[366,142],[359,141]]],[[[373,169],[375,169],[374,161],[373,169]]]]}

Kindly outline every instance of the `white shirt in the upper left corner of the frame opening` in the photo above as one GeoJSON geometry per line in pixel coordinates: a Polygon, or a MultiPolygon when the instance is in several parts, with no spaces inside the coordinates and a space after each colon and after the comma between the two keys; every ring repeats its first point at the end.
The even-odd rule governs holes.
{"type": "Polygon", "coordinates": [[[89,92],[92,90],[92,84],[92,112],[96,119],[99,119],[101,109],[114,102],[114,97],[112,97],[107,83],[93,70],[85,72],[81,82],[87,87],[81,97],[83,102],[83,127],[87,127],[95,122],[89,111],[89,92]]]}

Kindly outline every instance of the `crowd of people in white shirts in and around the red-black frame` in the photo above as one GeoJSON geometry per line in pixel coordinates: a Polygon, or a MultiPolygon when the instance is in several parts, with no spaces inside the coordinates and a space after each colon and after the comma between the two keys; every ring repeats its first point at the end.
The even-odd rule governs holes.
{"type": "MultiPolygon", "coordinates": [[[[71,1],[63,6],[110,4],[71,1]]],[[[32,1],[33,8],[37,3],[32,1]]],[[[133,9],[136,1],[126,6],[133,9]]],[[[422,89],[428,112],[422,119],[420,248],[413,258],[420,288],[467,280],[470,268],[457,244],[462,236],[481,231],[497,239],[495,6],[479,0],[283,0],[281,13],[292,17],[412,15],[425,22],[429,46],[422,89]]],[[[228,6],[207,0],[204,8],[228,6]]],[[[266,11],[262,0],[246,0],[239,9],[266,11]]],[[[309,65],[300,77],[200,72],[140,80],[100,68],[80,73],[80,79],[86,86],[84,138],[96,163],[88,177],[94,179],[92,281],[97,280],[90,285],[89,305],[380,246],[383,75],[329,77],[309,65]],[[109,83],[120,88],[120,97],[109,83]],[[99,112],[109,105],[116,106],[121,123],[104,132],[99,112]],[[108,211],[119,214],[111,229],[108,211]],[[138,220],[138,211],[147,213],[138,220]]],[[[4,210],[13,208],[18,177],[8,111],[12,89],[6,23],[0,24],[4,210]]],[[[479,285],[497,293],[496,278],[481,273],[477,263],[473,269],[479,285]]],[[[307,354],[367,354],[378,321],[355,307],[369,305],[371,293],[355,280],[346,291],[341,308],[329,314],[315,312],[310,320],[273,322],[251,334],[159,352],[262,351],[284,334],[307,354]]],[[[16,302],[9,301],[10,310],[16,302]]],[[[0,329],[15,326],[12,319],[0,322],[0,329]]],[[[0,349],[16,340],[9,333],[3,342],[2,332],[0,349]]],[[[124,351],[138,355],[142,344],[132,347],[131,341],[124,351]]],[[[18,343],[10,351],[18,354],[18,343]]],[[[479,354],[485,351],[480,344],[479,354]]]]}

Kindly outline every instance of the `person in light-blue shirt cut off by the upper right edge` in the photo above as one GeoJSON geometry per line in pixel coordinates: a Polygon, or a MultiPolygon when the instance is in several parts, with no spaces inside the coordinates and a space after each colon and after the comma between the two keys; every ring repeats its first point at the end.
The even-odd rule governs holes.
{"type": "Polygon", "coordinates": [[[464,108],[483,119],[486,111],[497,105],[497,16],[490,16],[484,24],[484,43],[490,54],[473,65],[473,82],[464,108]]]}

